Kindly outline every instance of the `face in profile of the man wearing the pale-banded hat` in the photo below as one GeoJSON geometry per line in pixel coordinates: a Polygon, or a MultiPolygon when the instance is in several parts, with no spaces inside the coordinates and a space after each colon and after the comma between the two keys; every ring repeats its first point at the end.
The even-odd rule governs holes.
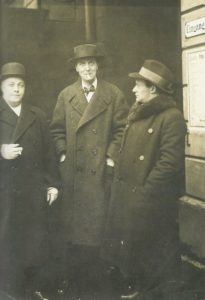
{"type": "Polygon", "coordinates": [[[132,91],[135,94],[137,102],[146,103],[153,98],[152,89],[153,86],[147,87],[144,80],[137,79],[132,91]]]}

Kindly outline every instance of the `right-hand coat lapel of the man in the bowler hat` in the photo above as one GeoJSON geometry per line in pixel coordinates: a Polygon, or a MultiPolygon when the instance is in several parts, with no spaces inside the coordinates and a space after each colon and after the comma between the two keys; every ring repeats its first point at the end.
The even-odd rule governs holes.
{"type": "Polygon", "coordinates": [[[36,114],[32,110],[32,107],[23,104],[21,114],[18,118],[16,128],[13,133],[13,143],[15,143],[24,134],[24,132],[31,126],[35,119],[36,114]]]}

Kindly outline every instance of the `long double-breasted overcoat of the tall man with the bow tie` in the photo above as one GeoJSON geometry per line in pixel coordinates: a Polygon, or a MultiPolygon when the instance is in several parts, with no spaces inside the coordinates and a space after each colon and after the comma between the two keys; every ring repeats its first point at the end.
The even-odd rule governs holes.
{"type": "Polygon", "coordinates": [[[126,115],[122,92],[102,80],[89,104],[80,80],[59,95],[51,132],[59,156],[66,154],[60,171],[67,241],[98,245],[102,238],[108,203],[106,157],[116,159],[126,115]]]}

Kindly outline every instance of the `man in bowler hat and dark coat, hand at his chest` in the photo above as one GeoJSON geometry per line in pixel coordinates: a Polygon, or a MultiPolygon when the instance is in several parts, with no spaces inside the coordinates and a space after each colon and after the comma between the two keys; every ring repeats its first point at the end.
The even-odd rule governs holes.
{"type": "Polygon", "coordinates": [[[27,279],[47,256],[47,208],[58,196],[59,178],[45,114],[23,101],[22,64],[2,66],[1,91],[1,288],[24,299],[27,279]]]}

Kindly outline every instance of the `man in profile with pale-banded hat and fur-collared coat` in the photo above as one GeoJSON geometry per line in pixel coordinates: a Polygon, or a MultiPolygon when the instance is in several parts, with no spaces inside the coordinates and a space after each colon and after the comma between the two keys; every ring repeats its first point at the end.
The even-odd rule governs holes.
{"type": "Polygon", "coordinates": [[[102,256],[128,279],[130,291],[122,299],[141,299],[139,291],[163,286],[178,271],[186,125],[172,97],[174,77],[164,64],[146,60],[129,76],[136,80],[136,102],[115,165],[102,256]]]}

